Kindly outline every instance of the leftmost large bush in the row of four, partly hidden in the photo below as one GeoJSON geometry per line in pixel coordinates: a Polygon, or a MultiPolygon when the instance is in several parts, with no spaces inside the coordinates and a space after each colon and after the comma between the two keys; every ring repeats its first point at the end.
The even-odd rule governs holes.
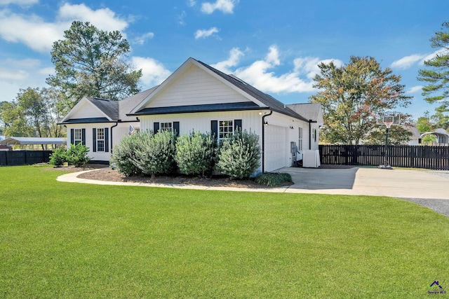
{"type": "Polygon", "coordinates": [[[117,169],[118,172],[125,176],[133,174],[142,174],[142,171],[135,165],[133,158],[135,158],[135,149],[141,144],[143,134],[135,133],[132,136],[126,136],[119,144],[116,144],[111,154],[111,165],[117,169]]]}

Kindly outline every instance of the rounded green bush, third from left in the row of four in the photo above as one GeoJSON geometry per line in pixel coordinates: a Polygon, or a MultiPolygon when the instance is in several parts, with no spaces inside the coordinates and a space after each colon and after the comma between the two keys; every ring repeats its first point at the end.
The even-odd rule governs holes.
{"type": "Polygon", "coordinates": [[[175,161],[187,175],[210,175],[215,166],[215,139],[210,134],[193,132],[176,140],[175,161]]]}

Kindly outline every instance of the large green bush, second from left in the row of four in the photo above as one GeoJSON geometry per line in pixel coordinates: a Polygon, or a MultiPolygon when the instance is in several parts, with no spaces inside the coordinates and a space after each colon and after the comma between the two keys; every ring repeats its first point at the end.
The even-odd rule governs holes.
{"type": "Polygon", "coordinates": [[[136,145],[133,162],[142,174],[170,174],[175,169],[175,134],[162,131],[157,134],[141,134],[140,144],[136,145]]]}

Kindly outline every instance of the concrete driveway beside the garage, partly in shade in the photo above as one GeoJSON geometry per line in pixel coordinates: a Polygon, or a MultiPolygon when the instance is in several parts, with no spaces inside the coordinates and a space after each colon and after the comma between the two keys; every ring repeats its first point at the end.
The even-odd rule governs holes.
{"type": "Polygon", "coordinates": [[[449,200],[449,172],[349,168],[285,167],[295,184],[286,193],[380,195],[410,199],[449,200]]]}

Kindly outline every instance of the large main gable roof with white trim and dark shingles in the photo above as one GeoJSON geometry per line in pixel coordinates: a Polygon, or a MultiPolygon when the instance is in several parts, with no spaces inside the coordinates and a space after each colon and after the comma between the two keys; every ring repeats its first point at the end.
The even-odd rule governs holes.
{"type": "MultiPolygon", "coordinates": [[[[190,57],[181,67],[179,67],[176,71],[171,74],[166,81],[164,81],[161,85],[161,88],[156,90],[152,95],[149,95],[146,99],[144,99],[140,105],[135,106],[133,111],[130,111],[128,116],[138,116],[138,115],[152,115],[152,114],[161,114],[161,113],[185,113],[189,112],[205,112],[205,111],[235,111],[235,110],[250,110],[250,109],[270,109],[272,111],[276,111],[287,116],[291,116],[293,118],[297,118],[300,120],[308,121],[306,118],[302,117],[300,114],[296,113],[292,109],[288,108],[286,104],[279,102],[277,99],[274,99],[271,95],[267,95],[266,93],[257,90],[252,85],[242,81],[233,75],[227,75],[222,73],[213,67],[210,67],[208,64],[201,62],[199,60],[195,60],[190,57]],[[244,97],[250,99],[254,104],[252,105],[243,105],[239,109],[236,109],[236,105],[220,105],[220,104],[210,104],[210,105],[189,105],[189,106],[166,106],[161,107],[159,109],[151,109],[145,108],[145,104],[147,104],[152,97],[156,96],[158,92],[161,92],[166,85],[170,84],[177,76],[179,76],[184,69],[187,68],[190,64],[194,64],[200,69],[208,72],[211,76],[214,76],[222,83],[225,83],[229,87],[233,88],[237,92],[239,92],[244,97]],[[209,110],[207,110],[209,109],[209,110]]],[[[236,103],[237,104],[237,103],[236,103]]]]}

